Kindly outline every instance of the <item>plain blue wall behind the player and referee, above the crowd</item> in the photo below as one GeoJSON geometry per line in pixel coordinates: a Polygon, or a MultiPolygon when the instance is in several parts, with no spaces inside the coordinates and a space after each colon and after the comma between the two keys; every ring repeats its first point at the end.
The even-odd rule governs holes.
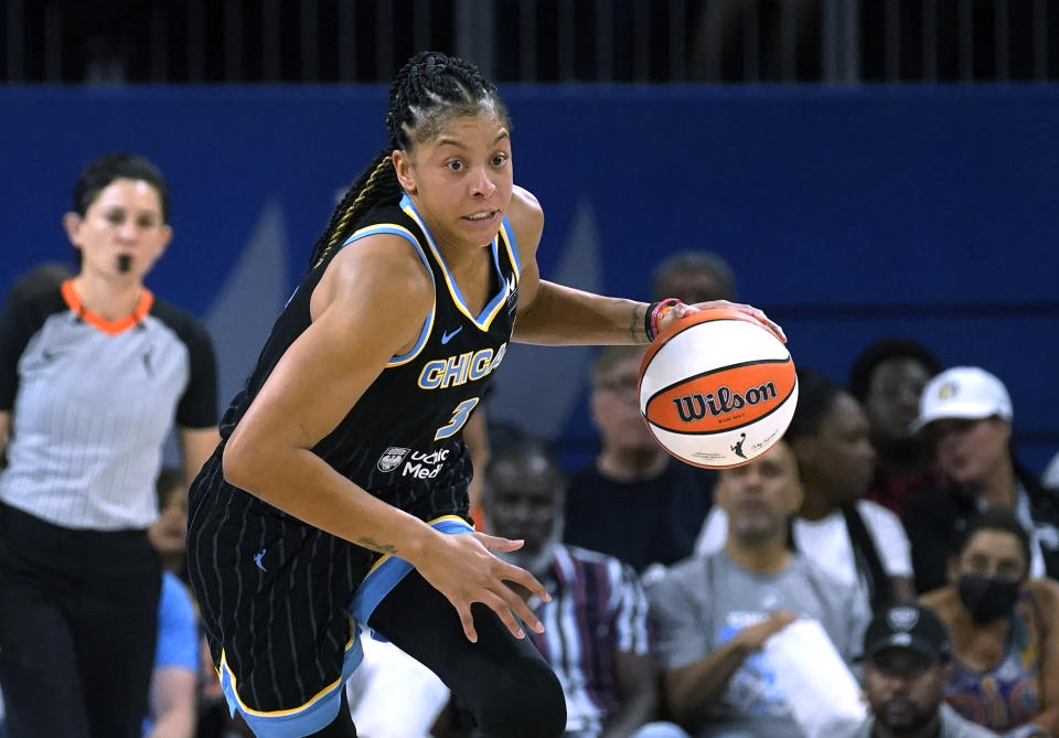
{"type": "MultiPolygon", "coordinates": [[[[709,248],[798,363],[844,379],[875,338],[919,338],[1007,382],[1031,467],[1059,448],[1059,88],[502,92],[516,181],[547,214],[546,278],[645,298],[659,258],[709,248]]],[[[0,289],[68,257],[60,218],[87,159],[146,153],[170,178],[176,234],[149,284],[220,331],[228,391],[383,142],[385,90],[6,88],[0,110],[0,289]]],[[[549,355],[567,351],[555,371],[575,389],[535,424],[587,452],[588,355],[549,355]]],[[[499,415],[532,404],[501,383],[499,415]]]]}

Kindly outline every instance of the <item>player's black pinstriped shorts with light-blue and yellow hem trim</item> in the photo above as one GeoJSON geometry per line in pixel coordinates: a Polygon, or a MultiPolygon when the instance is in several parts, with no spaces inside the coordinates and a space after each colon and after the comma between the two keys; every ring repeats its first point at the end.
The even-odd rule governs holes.
{"type": "MultiPolygon", "coordinates": [[[[361,663],[365,623],[411,565],[304,525],[226,483],[193,493],[191,505],[189,571],[229,710],[259,738],[327,727],[361,663]]],[[[457,515],[430,524],[472,531],[457,515]]]]}

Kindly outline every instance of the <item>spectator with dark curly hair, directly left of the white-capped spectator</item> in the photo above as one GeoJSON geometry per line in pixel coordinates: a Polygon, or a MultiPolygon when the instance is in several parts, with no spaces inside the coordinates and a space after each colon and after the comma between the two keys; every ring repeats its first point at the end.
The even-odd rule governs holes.
{"type": "Polygon", "coordinates": [[[943,480],[931,448],[912,431],[919,396],[940,371],[938,357],[917,341],[882,339],[857,356],[849,373],[849,392],[867,413],[876,453],[867,498],[898,515],[909,498],[943,480]]]}

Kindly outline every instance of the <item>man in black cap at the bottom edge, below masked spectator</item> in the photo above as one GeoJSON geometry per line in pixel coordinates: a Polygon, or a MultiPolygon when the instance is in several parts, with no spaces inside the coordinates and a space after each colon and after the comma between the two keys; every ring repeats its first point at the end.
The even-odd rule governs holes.
{"type": "Polygon", "coordinates": [[[864,635],[871,717],[852,738],[996,738],[944,702],[952,673],[949,634],[931,610],[891,605],[864,635]]]}

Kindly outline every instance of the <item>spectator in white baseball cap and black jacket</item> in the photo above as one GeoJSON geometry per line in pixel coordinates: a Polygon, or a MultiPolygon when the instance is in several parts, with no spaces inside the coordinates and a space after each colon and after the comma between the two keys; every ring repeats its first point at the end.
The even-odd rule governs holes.
{"type": "Polygon", "coordinates": [[[974,514],[1012,507],[1031,538],[1030,576],[1059,578],[1059,495],[1046,491],[1012,453],[1012,398],[993,374],[955,366],[931,379],[914,428],[934,445],[951,481],[905,509],[920,592],[946,582],[950,544],[974,514]]]}

